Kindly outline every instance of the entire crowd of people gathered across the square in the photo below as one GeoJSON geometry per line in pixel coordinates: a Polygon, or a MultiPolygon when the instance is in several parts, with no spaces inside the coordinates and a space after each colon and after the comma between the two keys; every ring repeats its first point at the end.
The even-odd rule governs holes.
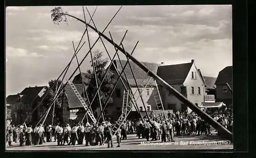
{"type": "MultiPolygon", "coordinates": [[[[233,118],[228,113],[220,111],[206,110],[212,118],[232,131],[233,118]]],[[[168,112],[162,115],[153,115],[150,120],[125,120],[119,127],[116,122],[110,121],[102,123],[74,123],[42,125],[32,128],[32,125],[9,125],[7,127],[7,142],[12,146],[12,142],[19,142],[20,146],[40,145],[47,142],[56,142],[57,145],[81,145],[85,140],[86,146],[104,145],[113,147],[113,135],[117,137],[117,147],[120,147],[121,140],[127,139],[127,134],[136,131],[137,137],[147,141],[174,142],[174,132],[176,135],[211,135],[210,125],[201,119],[194,112],[187,111],[172,114],[168,112]],[[167,119],[166,119],[167,118],[167,119]],[[114,127],[116,126],[116,128],[114,127]],[[115,130],[114,130],[115,129],[115,130]],[[46,139],[45,139],[46,138],[46,139]],[[152,138],[150,140],[150,138],[152,138]],[[76,143],[77,142],[77,143],[76,143]]]]}

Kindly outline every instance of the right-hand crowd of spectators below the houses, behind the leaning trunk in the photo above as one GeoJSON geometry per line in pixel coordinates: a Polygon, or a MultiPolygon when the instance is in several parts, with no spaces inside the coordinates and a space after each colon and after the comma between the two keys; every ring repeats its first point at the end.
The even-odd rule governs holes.
{"type": "MultiPolygon", "coordinates": [[[[203,110],[210,115],[214,120],[222,124],[225,128],[232,132],[233,129],[233,116],[230,109],[224,110],[203,110]]],[[[145,138],[147,141],[160,140],[162,142],[174,141],[174,131],[176,135],[205,135],[211,136],[212,127],[208,122],[201,119],[196,113],[187,111],[180,113],[177,111],[175,114],[168,112],[167,119],[164,114],[158,116],[153,115],[151,120],[140,119],[137,122],[127,121],[121,127],[121,135],[126,139],[126,133],[136,129],[138,138],[145,138]],[[166,139],[167,138],[167,139],[166,139]]],[[[215,130],[217,131],[217,130],[215,130]]],[[[218,132],[219,135],[219,132],[218,132]]]]}

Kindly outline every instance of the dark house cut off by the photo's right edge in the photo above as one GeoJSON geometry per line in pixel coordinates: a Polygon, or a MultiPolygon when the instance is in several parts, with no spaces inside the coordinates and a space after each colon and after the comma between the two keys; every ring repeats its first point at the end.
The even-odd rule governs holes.
{"type": "Polygon", "coordinates": [[[230,86],[231,90],[233,89],[233,80],[232,80],[232,66],[227,66],[222,69],[217,77],[215,82],[216,85],[216,101],[224,102],[226,106],[230,106],[233,102],[233,95],[229,90],[226,83],[230,86]]]}

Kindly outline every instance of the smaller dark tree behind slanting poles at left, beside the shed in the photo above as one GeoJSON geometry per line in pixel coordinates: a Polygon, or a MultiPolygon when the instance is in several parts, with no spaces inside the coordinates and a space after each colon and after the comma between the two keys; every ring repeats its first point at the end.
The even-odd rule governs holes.
{"type": "MultiPolygon", "coordinates": [[[[53,99],[54,99],[55,94],[56,94],[56,84],[54,85],[55,82],[56,82],[56,80],[51,80],[51,81],[48,82],[49,86],[45,87],[46,90],[45,90],[45,93],[42,97],[46,96],[46,98],[41,103],[41,107],[42,107],[41,108],[41,113],[45,113],[47,111],[47,109],[51,106],[51,103],[53,102],[53,99]],[[46,95],[47,93],[49,93],[49,94],[46,95]]],[[[60,85],[61,85],[60,89],[62,89],[64,85],[61,84],[60,80],[58,80],[57,89],[59,88],[60,85]]],[[[59,92],[58,92],[58,94],[59,94],[59,92]]],[[[54,120],[61,119],[61,116],[62,116],[61,101],[62,101],[62,92],[55,101],[54,120]]],[[[53,107],[54,106],[52,106],[52,108],[51,108],[47,117],[52,118],[52,116],[53,116],[53,107]]]]}

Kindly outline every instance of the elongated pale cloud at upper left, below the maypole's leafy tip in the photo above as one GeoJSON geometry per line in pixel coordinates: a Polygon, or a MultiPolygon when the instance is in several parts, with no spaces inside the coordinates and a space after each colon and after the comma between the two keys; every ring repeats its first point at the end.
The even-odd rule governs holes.
{"type": "MultiPolygon", "coordinates": [[[[82,37],[82,32],[74,30],[27,30],[29,33],[35,33],[39,35],[41,38],[45,38],[48,41],[63,43],[63,42],[71,42],[71,41],[79,41],[82,37]]],[[[40,38],[38,37],[38,38],[40,38]]]]}

